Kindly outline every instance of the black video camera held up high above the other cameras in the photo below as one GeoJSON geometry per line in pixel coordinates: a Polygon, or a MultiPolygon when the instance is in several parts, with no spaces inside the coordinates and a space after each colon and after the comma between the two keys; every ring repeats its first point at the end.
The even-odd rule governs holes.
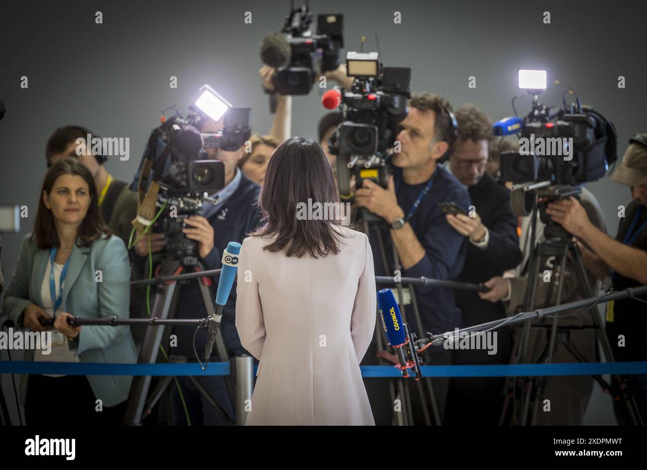
{"type": "Polygon", "coordinates": [[[305,6],[292,10],[285,19],[281,32],[290,44],[291,55],[289,63],[272,77],[278,94],[308,94],[320,69],[327,72],[339,66],[339,51],[344,47],[343,16],[318,15],[316,34],[311,30],[312,21],[313,15],[305,6]]]}

